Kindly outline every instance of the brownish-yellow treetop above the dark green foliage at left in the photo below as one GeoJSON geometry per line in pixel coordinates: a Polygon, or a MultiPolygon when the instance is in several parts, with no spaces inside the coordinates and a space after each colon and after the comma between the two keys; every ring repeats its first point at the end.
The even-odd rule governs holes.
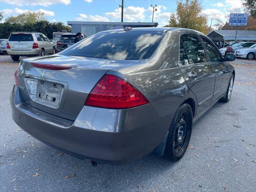
{"type": "Polygon", "coordinates": [[[40,11],[27,11],[24,13],[20,13],[17,16],[9,16],[6,18],[5,22],[9,22],[11,24],[18,23],[18,24],[34,24],[38,21],[46,20],[43,12],[40,11]]]}

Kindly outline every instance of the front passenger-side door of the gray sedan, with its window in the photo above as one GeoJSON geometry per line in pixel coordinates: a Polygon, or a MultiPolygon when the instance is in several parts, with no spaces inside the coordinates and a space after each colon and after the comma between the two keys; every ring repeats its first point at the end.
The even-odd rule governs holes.
{"type": "Polygon", "coordinates": [[[215,72],[215,87],[213,102],[219,99],[227,90],[230,79],[230,68],[222,58],[220,51],[214,44],[206,37],[200,36],[205,46],[208,61],[212,64],[215,72]]]}

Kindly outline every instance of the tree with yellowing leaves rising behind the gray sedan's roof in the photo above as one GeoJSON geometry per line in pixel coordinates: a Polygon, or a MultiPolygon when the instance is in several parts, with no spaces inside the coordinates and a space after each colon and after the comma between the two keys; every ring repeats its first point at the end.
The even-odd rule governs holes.
{"type": "Polygon", "coordinates": [[[188,28],[207,34],[207,16],[202,14],[198,0],[177,0],[176,13],[170,15],[168,27],[188,28]]]}

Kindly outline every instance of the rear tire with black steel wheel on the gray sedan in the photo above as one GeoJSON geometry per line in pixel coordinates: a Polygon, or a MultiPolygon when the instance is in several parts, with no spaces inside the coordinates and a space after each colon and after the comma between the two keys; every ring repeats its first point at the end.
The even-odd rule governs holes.
{"type": "Polygon", "coordinates": [[[170,161],[178,161],[185,154],[192,132],[193,112],[189,104],[182,104],[170,126],[163,157],[170,161]]]}

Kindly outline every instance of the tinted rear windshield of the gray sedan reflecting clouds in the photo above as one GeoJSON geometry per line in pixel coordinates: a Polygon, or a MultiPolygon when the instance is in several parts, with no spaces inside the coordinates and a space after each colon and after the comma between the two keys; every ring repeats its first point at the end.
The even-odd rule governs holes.
{"type": "Polygon", "coordinates": [[[141,60],[156,50],[164,32],[112,31],[97,33],[62,51],[60,55],[141,60]]]}

